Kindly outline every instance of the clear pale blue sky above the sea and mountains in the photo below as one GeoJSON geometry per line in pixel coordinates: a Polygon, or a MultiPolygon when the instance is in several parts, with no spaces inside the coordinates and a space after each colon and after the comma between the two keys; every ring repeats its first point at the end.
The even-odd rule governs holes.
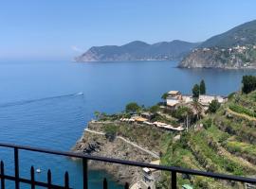
{"type": "Polygon", "coordinates": [[[256,19],[255,0],[1,0],[0,60],[72,60],[91,46],[203,42],[256,19]]]}

